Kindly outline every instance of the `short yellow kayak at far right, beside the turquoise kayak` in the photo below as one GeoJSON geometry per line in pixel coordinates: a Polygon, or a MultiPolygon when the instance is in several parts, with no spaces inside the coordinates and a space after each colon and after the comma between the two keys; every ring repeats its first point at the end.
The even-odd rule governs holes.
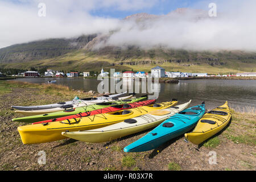
{"type": "Polygon", "coordinates": [[[200,144],[220,132],[231,119],[228,101],[224,105],[210,110],[199,120],[191,133],[185,134],[185,139],[194,144],[200,144]]]}

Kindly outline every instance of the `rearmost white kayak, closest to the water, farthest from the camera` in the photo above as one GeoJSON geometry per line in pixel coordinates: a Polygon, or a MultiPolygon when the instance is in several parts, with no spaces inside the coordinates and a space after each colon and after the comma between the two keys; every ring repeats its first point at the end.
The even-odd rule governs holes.
{"type": "Polygon", "coordinates": [[[56,104],[48,104],[48,105],[39,105],[39,106],[11,106],[14,109],[18,110],[41,110],[41,109],[52,109],[55,107],[62,107],[64,105],[73,105],[73,104],[79,104],[79,103],[84,103],[84,104],[97,104],[101,102],[108,102],[110,99],[115,99],[123,94],[126,94],[126,92],[123,93],[118,93],[118,94],[113,94],[113,95],[104,95],[101,97],[89,97],[89,98],[75,98],[72,101],[67,101],[67,102],[59,102],[56,104]]]}

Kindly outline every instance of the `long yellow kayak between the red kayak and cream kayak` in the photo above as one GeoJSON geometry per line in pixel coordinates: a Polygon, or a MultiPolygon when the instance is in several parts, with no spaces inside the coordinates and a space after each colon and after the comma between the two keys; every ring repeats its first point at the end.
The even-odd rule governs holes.
{"type": "Polygon", "coordinates": [[[125,119],[147,114],[150,111],[166,109],[167,107],[174,106],[176,104],[177,101],[162,102],[160,104],[141,106],[105,114],[96,114],[82,118],[67,119],[59,122],[19,126],[18,131],[23,144],[52,142],[67,138],[61,135],[61,132],[64,131],[97,129],[122,122],[125,119]]]}

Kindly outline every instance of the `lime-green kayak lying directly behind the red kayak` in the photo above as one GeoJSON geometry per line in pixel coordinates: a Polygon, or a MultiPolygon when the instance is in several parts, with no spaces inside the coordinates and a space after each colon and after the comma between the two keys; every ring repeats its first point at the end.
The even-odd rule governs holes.
{"type": "Polygon", "coordinates": [[[147,99],[147,96],[142,96],[139,98],[131,98],[131,99],[126,99],[126,100],[112,101],[112,102],[103,102],[103,103],[88,105],[88,106],[84,106],[84,107],[65,109],[63,111],[57,111],[57,112],[53,112],[53,113],[31,115],[31,116],[22,117],[22,118],[14,118],[13,121],[33,123],[33,122],[44,121],[47,119],[54,119],[54,118],[65,117],[68,115],[84,113],[86,111],[103,109],[103,108],[110,107],[110,106],[129,104],[129,103],[138,102],[138,101],[142,101],[142,100],[146,100],[146,99],[147,99]]]}

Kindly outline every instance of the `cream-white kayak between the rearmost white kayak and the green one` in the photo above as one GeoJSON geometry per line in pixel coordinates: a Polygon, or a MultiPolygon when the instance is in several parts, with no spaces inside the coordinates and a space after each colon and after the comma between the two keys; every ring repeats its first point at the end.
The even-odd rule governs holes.
{"type": "MultiPolygon", "coordinates": [[[[126,97],[118,97],[118,100],[126,100],[129,98],[132,98],[133,95],[130,96],[126,96],[126,97]]],[[[105,100],[102,100],[105,101],[105,100]]],[[[110,101],[116,101],[113,100],[112,98],[110,98],[108,100],[110,101]]],[[[102,102],[103,103],[103,102],[102,102]]],[[[47,113],[54,113],[57,111],[63,111],[66,109],[72,109],[72,108],[77,108],[77,107],[84,107],[84,106],[88,106],[88,105],[93,105],[94,103],[86,103],[86,102],[80,102],[77,104],[71,104],[71,105],[63,105],[61,107],[55,107],[55,108],[51,108],[51,109],[39,109],[39,110],[15,110],[15,113],[20,113],[26,116],[31,116],[31,115],[38,115],[38,114],[47,114],[47,113]]],[[[96,104],[100,104],[100,103],[96,103],[96,104]]]]}

